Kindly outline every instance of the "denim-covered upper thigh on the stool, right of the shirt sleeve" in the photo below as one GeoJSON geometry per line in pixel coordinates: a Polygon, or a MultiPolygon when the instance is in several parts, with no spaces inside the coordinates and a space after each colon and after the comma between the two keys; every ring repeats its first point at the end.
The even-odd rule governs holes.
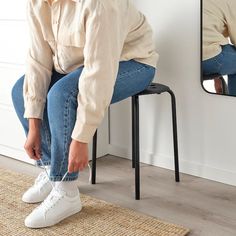
{"type": "Polygon", "coordinates": [[[121,61],[114,85],[111,104],[133,96],[148,87],[156,69],[135,60],[121,61]]]}

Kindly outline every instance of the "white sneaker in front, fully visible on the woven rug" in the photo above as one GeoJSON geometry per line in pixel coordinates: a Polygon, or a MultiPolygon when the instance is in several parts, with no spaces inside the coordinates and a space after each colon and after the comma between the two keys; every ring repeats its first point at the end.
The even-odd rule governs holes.
{"type": "Polygon", "coordinates": [[[29,228],[52,226],[81,209],[79,189],[75,197],[68,197],[66,192],[54,187],[47,198],[25,218],[25,226],[29,228]]]}

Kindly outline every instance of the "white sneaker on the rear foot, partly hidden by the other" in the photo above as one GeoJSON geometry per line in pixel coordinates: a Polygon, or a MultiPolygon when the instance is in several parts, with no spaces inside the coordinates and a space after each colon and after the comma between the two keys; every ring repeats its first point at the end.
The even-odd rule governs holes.
{"type": "Polygon", "coordinates": [[[22,201],[26,203],[42,202],[52,190],[52,183],[48,179],[45,171],[41,172],[31,186],[22,196],[22,201]]]}

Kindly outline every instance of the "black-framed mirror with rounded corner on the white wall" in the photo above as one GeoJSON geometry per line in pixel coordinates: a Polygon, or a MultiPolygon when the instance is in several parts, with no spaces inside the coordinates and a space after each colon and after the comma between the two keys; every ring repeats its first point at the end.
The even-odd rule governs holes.
{"type": "Polygon", "coordinates": [[[201,84],[236,96],[236,0],[201,0],[201,84]]]}

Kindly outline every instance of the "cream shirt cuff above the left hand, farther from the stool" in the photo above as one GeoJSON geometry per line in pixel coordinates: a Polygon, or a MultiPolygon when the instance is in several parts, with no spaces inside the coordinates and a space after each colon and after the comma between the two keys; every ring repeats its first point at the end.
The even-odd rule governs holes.
{"type": "Polygon", "coordinates": [[[25,107],[24,118],[38,118],[43,120],[44,106],[45,104],[42,102],[28,100],[25,107]]]}

